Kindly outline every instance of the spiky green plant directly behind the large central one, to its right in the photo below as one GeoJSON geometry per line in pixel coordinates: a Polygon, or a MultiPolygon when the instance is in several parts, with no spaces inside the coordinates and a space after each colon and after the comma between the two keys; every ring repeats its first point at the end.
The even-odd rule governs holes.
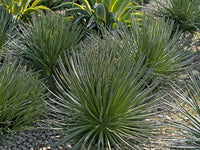
{"type": "Polygon", "coordinates": [[[130,36],[129,43],[134,42],[137,47],[134,61],[145,55],[145,63],[149,68],[154,68],[154,75],[171,77],[181,71],[188,62],[189,52],[183,49],[181,33],[173,30],[173,23],[163,19],[154,19],[151,16],[142,17],[141,25],[132,19],[131,33],[125,31],[122,38],[130,36]]]}

